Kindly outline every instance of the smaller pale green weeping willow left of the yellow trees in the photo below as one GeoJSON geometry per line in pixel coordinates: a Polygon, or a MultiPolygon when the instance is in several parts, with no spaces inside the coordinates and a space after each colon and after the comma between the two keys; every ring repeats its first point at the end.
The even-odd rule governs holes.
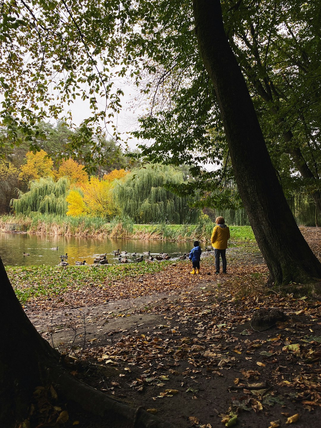
{"type": "Polygon", "coordinates": [[[38,211],[42,214],[65,215],[69,184],[65,177],[59,178],[57,182],[51,177],[31,181],[28,192],[21,192],[18,199],[12,199],[13,210],[17,214],[38,211]]]}

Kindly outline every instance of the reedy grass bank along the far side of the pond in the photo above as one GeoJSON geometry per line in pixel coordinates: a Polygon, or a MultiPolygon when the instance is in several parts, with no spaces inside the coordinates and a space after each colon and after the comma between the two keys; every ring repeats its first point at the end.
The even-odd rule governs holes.
{"type": "MultiPolygon", "coordinates": [[[[134,224],[130,219],[115,218],[110,223],[101,217],[69,217],[33,213],[25,216],[3,215],[0,217],[0,231],[8,231],[9,225],[28,233],[43,235],[77,236],[81,238],[133,238],[169,241],[209,241],[213,223],[198,224],[134,224]]],[[[250,226],[230,226],[232,241],[254,241],[250,226]]]]}

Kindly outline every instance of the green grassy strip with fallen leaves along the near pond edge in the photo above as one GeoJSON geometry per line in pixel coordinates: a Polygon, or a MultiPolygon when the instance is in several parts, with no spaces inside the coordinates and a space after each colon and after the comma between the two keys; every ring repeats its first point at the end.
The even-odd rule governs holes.
{"type": "Polygon", "coordinates": [[[131,263],[128,265],[97,265],[81,268],[69,266],[7,266],[6,271],[21,304],[39,296],[54,297],[69,288],[80,289],[83,285],[101,286],[125,276],[135,277],[145,273],[160,272],[163,263],[131,263]]]}

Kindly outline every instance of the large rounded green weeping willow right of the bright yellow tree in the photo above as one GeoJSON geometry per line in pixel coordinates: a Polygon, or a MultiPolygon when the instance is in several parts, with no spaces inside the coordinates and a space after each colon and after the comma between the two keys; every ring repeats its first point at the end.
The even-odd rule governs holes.
{"type": "Polygon", "coordinates": [[[172,166],[149,165],[133,169],[116,185],[114,195],[122,214],[137,223],[193,223],[199,211],[168,189],[182,182],[182,172],[172,166]]]}

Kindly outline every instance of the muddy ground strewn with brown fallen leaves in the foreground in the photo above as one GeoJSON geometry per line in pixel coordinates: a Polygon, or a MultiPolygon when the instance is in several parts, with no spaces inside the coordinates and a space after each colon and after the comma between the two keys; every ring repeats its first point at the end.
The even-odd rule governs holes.
{"type": "MultiPolygon", "coordinates": [[[[320,236],[304,232],[320,257],[320,236]]],[[[177,428],[318,426],[321,302],[266,288],[253,244],[227,258],[227,275],[215,275],[206,254],[198,276],[187,261],[164,264],[160,273],[87,284],[25,311],[68,354],[74,376],[177,428]],[[256,311],[274,308],[287,319],[253,328],[256,311]]]]}

